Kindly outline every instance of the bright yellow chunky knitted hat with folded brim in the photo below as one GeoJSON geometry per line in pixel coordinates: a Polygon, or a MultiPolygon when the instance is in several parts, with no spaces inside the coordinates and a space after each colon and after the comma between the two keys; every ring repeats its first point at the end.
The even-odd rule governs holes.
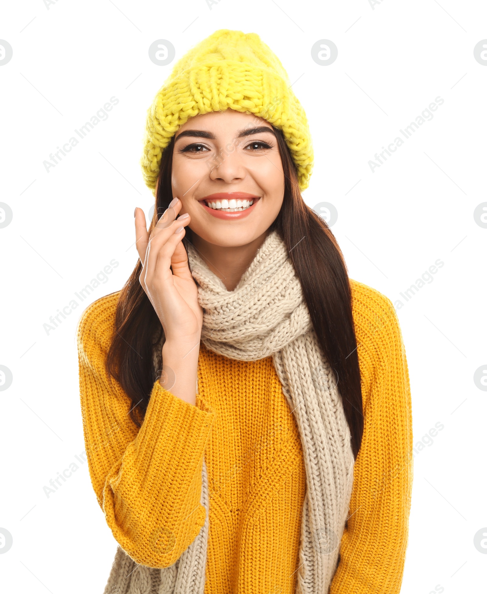
{"type": "Polygon", "coordinates": [[[256,33],[220,29],[177,62],[147,110],[141,165],[153,194],[162,152],[177,130],[195,115],[228,108],[253,113],[281,129],[300,188],[308,187],[311,135],[287,72],[256,33]]]}

